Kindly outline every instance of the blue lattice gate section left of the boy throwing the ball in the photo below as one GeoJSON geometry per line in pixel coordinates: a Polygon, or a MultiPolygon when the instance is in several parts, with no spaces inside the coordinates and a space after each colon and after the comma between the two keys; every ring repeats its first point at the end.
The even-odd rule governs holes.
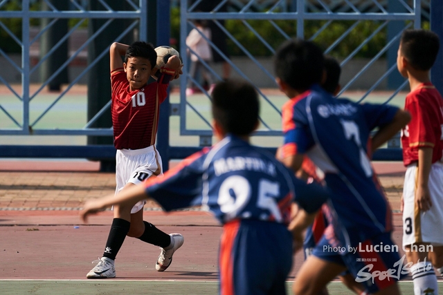
{"type": "MultiPolygon", "coordinates": [[[[107,8],[107,10],[85,11],[84,8],[82,8],[82,6],[80,6],[78,3],[76,3],[75,1],[71,1],[71,3],[74,3],[75,8],[77,8],[78,10],[59,11],[59,10],[56,10],[55,8],[53,8],[51,3],[47,2],[48,6],[52,10],[50,10],[50,11],[31,11],[31,10],[29,10],[30,0],[23,0],[21,3],[21,11],[0,11],[0,18],[17,17],[22,20],[21,41],[19,39],[17,39],[17,37],[15,37],[10,31],[8,32],[11,35],[11,37],[13,39],[15,39],[17,44],[19,44],[21,46],[21,65],[22,66],[19,67],[19,66],[15,65],[14,62],[11,59],[9,59],[7,57],[7,55],[0,50],[0,54],[7,57],[8,61],[13,66],[15,66],[17,68],[19,73],[21,73],[21,93],[22,93],[22,95],[20,96],[17,93],[15,93],[15,91],[13,91],[12,87],[1,77],[0,77],[0,82],[3,82],[3,84],[8,86],[10,91],[12,93],[14,93],[15,96],[19,100],[21,100],[21,102],[23,104],[21,124],[19,122],[17,122],[17,120],[15,120],[13,118],[13,116],[10,115],[8,113],[8,111],[6,111],[6,109],[0,105],[0,111],[3,111],[3,113],[6,113],[7,117],[9,117],[10,120],[12,120],[12,122],[14,122],[14,124],[17,125],[16,129],[0,129],[0,135],[31,135],[32,134],[32,135],[102,135],[102,136],[112,136],[112,129],[99,129],[99,128],[91,128],[90,127],[91,124],[93,124],[96,121],[96,119],[98,117],[100,117],[100,115],[103,112],[109,111],[110,102],[109,102],[109,104],[104,106],[102,108],[102,110],[96,116],[94,116],[89,122],[87,122],[87,124],[82,129],[34,129],[33,128],[33,126],[35,124],[37,124],[37,122],[39,122],[39,120],[42,119],[42,117],[44,117],[44,115],[46,115],[46,113],[48,113],[48,111],[50,111],[51,108],[53,108],[53,106],[63,97],[63,95],[65,95],[69,91],[69,89],[71,89],[71,87],[74,86],[80,80],[81,77],[86,75],[87,72],[93,66],[95,66],[96,63],[104,55],[106,55],[108,53],[108,49],[103,50],[102,53],[100,53],[100,55],[97,57],[97,59],[95,61],[93,61],[91,64],[89,64],[87,66],[87,68],[85,68],[83,70],[83,72],[80,73],[80,75],[78,75],[78,77],[73,79],[73,81],[69,84],[69,86],[66,88],[66,90],[64,90],[57,97],[57,99],[55,99],[55,101],[53,101],[53,103],[50,106],[48,106],[48,108],[46,108],[46,110],[43,113],[41,113],[39,115],[39,117],[37,117],[37,120],[35,120],[35,122],[31,123],[30,116],[29,116],[30,101],[34,97],[36,97],[36,95],[38,93],[40,93],[40,91],[42,91],[49,84],[49,82],[51,82],[51,80],[57,76],[58,73],[60,73],[64,68],[66,68],[69,65],[69,63],[71,61],[73,61],[73,59],[75,59],[75,57],[78,56],[78,54],[80,53],[80,51],[83,48],[88,46],[88,44],[90,44],[91,41],[93,41],[93,39],[95,39],[101,32],[103,32],[113,19],[134,19],[134,23],[132,23],[131,26],[126,28],[122,32],[122,34],[120,34],[120,36],[118,36],[115,39],[115,41],[119,41],[120,39],[122,39],[122,37],[124,37],[133,28],[136,28],[137,25],[138,25],[138,30],[140,32],[139,33],[140,39],[141,40],[146,39],[146,36],[147,36],[147,32],[146,32],[146,30],[147,30],[147,0],[139,0],[138,6],[136,6],[132,1],[127,1],[128,3],[130,3],[132,5],[132,7],[134,8],[134,11],[114,11],[114,10],[111,10],[111,8],[109,8],[109,6],[107,6],[105,1],[103,1],[103,0],[98,0],[98,1],[100,1],[100,3],[102,3],[102,5],[105,8],[107,8]],[[39,18],[53,18],[53,19],[80,18],[80,19],[82,19],[82,21],[84,21],[84,19],[109,19],[109,20],[97,32],[95,32],[91,37],[89,37],[87,42],[85,44],[83,44],[80,48],[78,48],[78,50],[76,50],[75,53],[73,53],[73,55],[69,59],[67,59],[64,62],[64,64],[55,73],[53,73],[53,75],[51,75],[51,77],[49,77],[46,80],[46,82],[44,82],[42,84],[42,86],[40,86],[39,89],[35,93],[31,94],[30,89],[29,89],[30,74],[33,73],[35,71],[35,69],[38,68],[38,66],[40,66],[42,64],[42,62],[45,61],[47,59],[47,57],[49,55],[51,55],[51,53],[53,53],[55,51],[55,49],[57,49],[57,47],[60,46],[60,44],[63,43],[63,41],[65,41],[65,39],[67,39],[69,36],[71,36],[71,34],[74,32],[75,28],[80,26],[80,23],[82,22],[82,21],[79,21],[77,26],[74,26],[74,28],[72,28],[64,36],[64,38],[62,38],[62,40],[60,40],[54,46],[54,48],[52,48],[42,58],[42,60],[39,61],[39,63],[33,69],[31,69],[30,68],[30,45],[33,44],[33,42],[36,41],[36,39],[38,39],[38,37],[40,37],[44,32],[46,32],[46,30],[48,30],[48,28],[53,26],[55,23],[55,21],[51,22],[48,26],[46,26],[46,28],[44,28],[41,32],[39,32],[37,37],[35,37],[33,40],[30,40],[30,38],[29,38],[30,19],[39,19],[39,18]]],[[[6,26],[2,26],[2,28],[8,31],[8,28],[6,28],[6,26]]]]}

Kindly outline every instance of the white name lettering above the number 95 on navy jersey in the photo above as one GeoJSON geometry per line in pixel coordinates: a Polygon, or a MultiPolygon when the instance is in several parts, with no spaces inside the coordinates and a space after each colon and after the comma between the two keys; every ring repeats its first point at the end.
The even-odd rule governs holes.
{"type": "Polygon", "coordinates": [[[219,176],[230,171],[248,170],[263,172],[271,176],[276,175],[275,166],[259,158],[235,157],[221,158],[214,162],[215,175],[219,176]]]}

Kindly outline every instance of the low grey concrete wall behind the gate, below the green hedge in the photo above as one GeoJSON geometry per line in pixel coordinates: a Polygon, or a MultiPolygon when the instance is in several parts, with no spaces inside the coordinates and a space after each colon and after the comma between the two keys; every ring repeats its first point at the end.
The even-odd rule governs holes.
{"type": "MultiPolygon", "coordinates": [[[[21,66],[21,55],[10,55],[9,56],[12,61],[17,64],[17,66],[21,66]]],[[[259,86],[260,88],[275,88],[275,82],[273,80],[273,63],[271,58],[257,58],[257,61],[260,62],[262,67],[268,72],[266,74],[262,68],[259,66],[253,64],[252,61],[250,61],[247,57],[234,57],[233,63],[239,70],[248,77],[248,79],[251,79],[251,81],[259,86]]],[[[340,83],[342,86],[345,86],[347,82],[349,82],[356,73],[363,68],[366,64],[368,64],[367,59],[356,59],[353,61],[348,62],[345,66],[343,66],[342,74],[341,74],[341,80],[340,83]]],[[[37,57],[31,58],[31,68],[37,64],[38,59],[37,57]]],[[[74,61],[69,66],[69,81],[72,81],[80,73],[82,73],[82,70],[86,67],[86,58],[81,57],[79,60],[74,61]]],[[[215,64],[214,65],[215,71],[221,75],[221,64],[215,64]]],[[[375,82],[377,82],[377,79],[381,77],[386,71],[386,61],[381,60],[377,61],[374,65],[372,65],[370,68],[368,68],[367,72],[359,77],[359,79],[356,79],[354,84],[350,87],[352,90],[359,90],[359,89],[368,89],[370,88],[375,82]]],[[[3,79],[6,80],[9,84],[21,84],[21,74],[15,69],[14,66],[10,64],[8,60],[6,60],[5,57],[0,57],[0,75],[3,79]]],[[[109,75],[109,73],[104,73],[104,75],[109,75]]],[[[237,78],[242,77],[239,75],[239,73],[236,72],[234,68],[231,70],[231,77],[237,78]]],[[[80,84],[87,84],[87,75],[84,75],[79,81],[80,84]]],[[[39,70],[37,69],[35,73],[33,73],[30,76],[30,82],[31,83],[41,83],[39,70]]],[[[174,86],[178,85],[178,81],[174,81],[174,86]]],[[[381,82],[380,86],[377,88],[378,90],[384,90],[386,89],[386,81],[383,80],[381,82]]]]}

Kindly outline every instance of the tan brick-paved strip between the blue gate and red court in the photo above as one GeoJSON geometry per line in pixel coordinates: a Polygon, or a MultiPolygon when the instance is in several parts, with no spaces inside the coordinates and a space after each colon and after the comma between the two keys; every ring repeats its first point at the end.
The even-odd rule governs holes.
{"type": "MultiPolygon", "coordinates": [[[[392,210],[397,212],[404,166],[401,162],[373,164],[392,210]]],[[[114,173],[98,169],[98,162],[0,160],[0,211],[78,210],[89,198],[114,193],[114,173]]],[[[145,210],[159,207],[150,202],[145,210]]]]}

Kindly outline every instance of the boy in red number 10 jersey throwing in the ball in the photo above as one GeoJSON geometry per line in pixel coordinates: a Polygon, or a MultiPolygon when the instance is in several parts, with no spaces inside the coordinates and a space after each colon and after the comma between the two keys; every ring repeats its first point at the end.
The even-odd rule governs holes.
{"type": "MultiPolygon", "coordinates": [[[[157,54],[152,44],[136,41],[132,45],[114,42],[109,49],[111,68],[111,115],[116,146],[116,193],[152,175],[161,175],[161,158],[154,146],[159,107],[168,95],[171,79],[181,72],[179,57],[170,57],[159,79],[147,84],[154,74],[157,54]],[[125,56],[125,62],[122,61],[125,56]]],[[[183,245],[181,234],[165,234],[143,221],[145,202],[114,206],[114,220],[105,251],[87,278],[114,278],[114,260],[126,236],[161,247],[156,270],[163,272],[172,254],[183,245]]]]}

